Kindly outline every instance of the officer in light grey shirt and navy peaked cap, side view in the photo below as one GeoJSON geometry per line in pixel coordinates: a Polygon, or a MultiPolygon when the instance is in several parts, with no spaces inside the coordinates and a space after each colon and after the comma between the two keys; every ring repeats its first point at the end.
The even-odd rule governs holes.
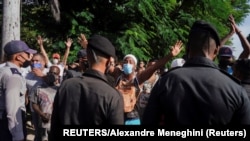
{"type": "Polygon", "coordinates": [[[0,68],[0,141],[23,141],[26,81],[21,67],[36,51],[21,40],[8,42],[4,51],[7,62],[0,68]]]}

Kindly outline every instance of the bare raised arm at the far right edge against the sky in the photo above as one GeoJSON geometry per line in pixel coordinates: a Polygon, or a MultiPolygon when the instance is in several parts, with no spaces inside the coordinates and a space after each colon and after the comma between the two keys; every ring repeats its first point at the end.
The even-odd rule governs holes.
{"type": "Polygon", "coordinates": [[[230,15],[229,20],[230,20],[230,23],[234,26],[236,34],[239,37],[241,45],[243,47],[243,51],[241,52],[239,59],[248,58],[250,55],[250,44],[249,44],[247,38],[244,37],[244,35],[241,33],[240,29],[237,27],[237,25],[234,21],[234,17],[232,15],[230,15]]]}

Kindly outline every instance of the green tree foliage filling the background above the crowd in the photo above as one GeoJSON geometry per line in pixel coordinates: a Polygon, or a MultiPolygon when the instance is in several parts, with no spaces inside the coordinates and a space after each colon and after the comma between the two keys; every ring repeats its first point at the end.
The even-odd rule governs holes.
{"type": "MultiPolygon", "coordinates": [[[[69,62],[81,48],[77,37],[102,34],[115,45],[118,59],[128,53],[140,60],[160,58],[177,40],[187,42],[195,20],[212,23],[223,37],[229,32],[228,16],[241,23],[249,13],[249,0],[59,0],[61,22],[56,23],[48,4],[23,6],[22,39],[38,49],[36,36],[42,35],[46,51],[64,54],[67,37],[74,43],[69,62]]],[[[230,43],[230,41],[229,41],[230,43]]],[[[178,57],[183,56],[185,50],[178,57]]]]}

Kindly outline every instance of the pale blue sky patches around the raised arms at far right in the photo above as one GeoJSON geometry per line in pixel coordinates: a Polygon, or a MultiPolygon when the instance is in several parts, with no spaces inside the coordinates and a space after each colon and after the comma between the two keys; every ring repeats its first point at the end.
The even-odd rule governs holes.
{"type": "MultiPolygon", "coordinates": [[[[238,25],[238,28],[245,37],[247,37],[250,34],[250,14],[248,14],[248,16],[244,19],[244,22],[238,25]]],[[[233,38],[232,46],[235,47],[233,55],[237,59],[240,53],[243,51],[243,49],[239,37],[236,34],[234,34],[232,38],[233,38]]]]}

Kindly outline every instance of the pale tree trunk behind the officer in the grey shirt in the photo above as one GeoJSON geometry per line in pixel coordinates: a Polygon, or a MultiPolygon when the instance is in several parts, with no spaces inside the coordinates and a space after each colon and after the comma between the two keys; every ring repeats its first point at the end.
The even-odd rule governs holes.
{"type": "Polygon", "coordinates": [[[3,0],[1,61],[4,46],[11,40],[20,40],[20,0],[3,0]]]}

